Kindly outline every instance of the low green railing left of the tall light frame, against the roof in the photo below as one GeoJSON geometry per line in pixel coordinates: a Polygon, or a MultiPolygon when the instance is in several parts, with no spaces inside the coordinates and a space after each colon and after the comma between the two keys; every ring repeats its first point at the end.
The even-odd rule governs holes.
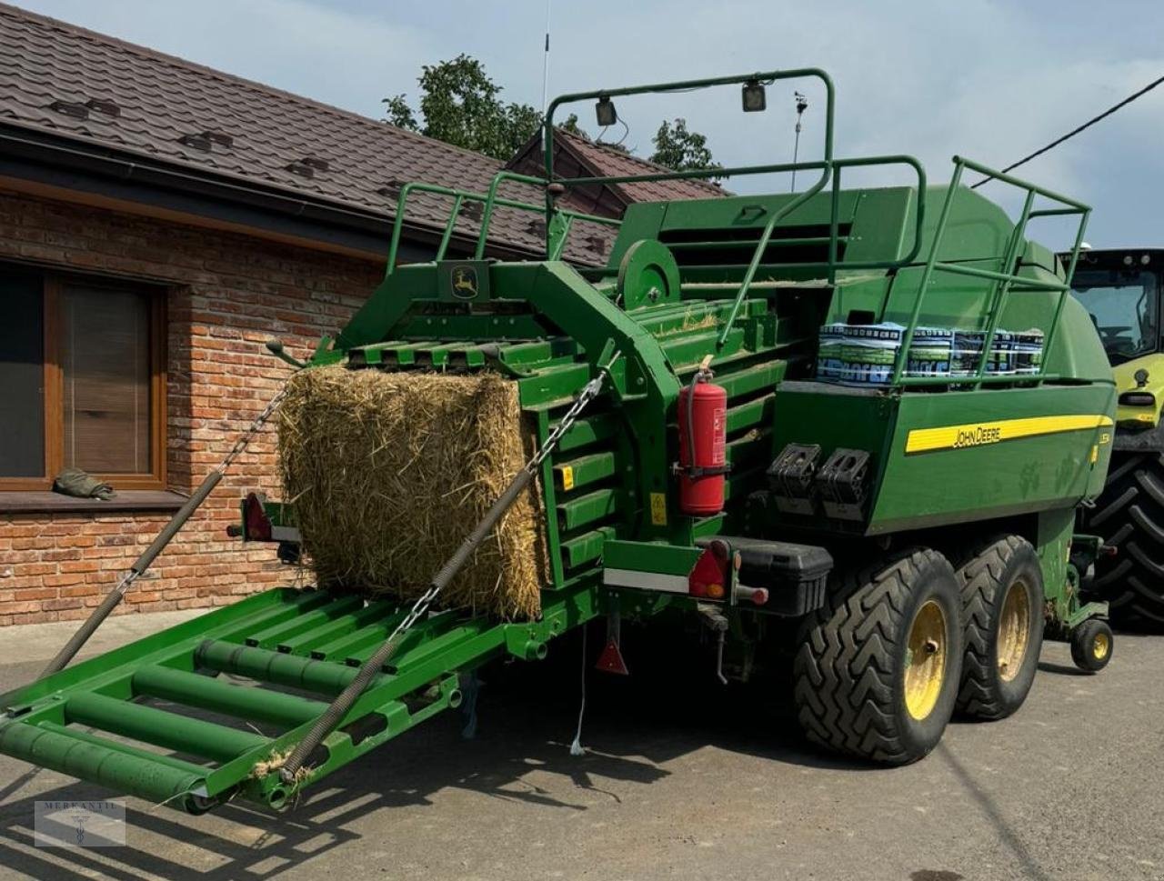
{"type": "MultiPolygon", "coordinates": [[[[538,215],[545,213],[546,207],[544,205],[537,205],[534,203],[520,201],[519,199],[510,199],[499,196],[498,190],[501,189],[501,185],[506,182],[531,184],[539,187],[546,186],[546,182],[541,178],[530,177],[528,175],[518,175],[512,171],[499,171],[494,175],[492,180],[489,183],[489,189],[484,193],[475,193],[468,190],[455,190],[448,186],[440,186],[439,184],[425,184],[420,182],[412,182],[402,186],[400,194],[396,199],[396,218],[392,221],[392,237],[388,248],[388,269],[384,275],[390,276],[396,270],[396,260],[400,249],[400,235],[404,230],[405,212],[407,209],[409,197],[412,193],[433,193],[434,196],[445,196],[453,200],[448,220],[446,221],[445,228],[441,233],[440,243],[436,246],[436,254],[433,257],[434,261],[445,260],[445,255],[448,253],[449,244],[453,241],[453,233],[456,229],[456,222],[466,203],[480,203],[482,206],[481,228],[477,232],[476,246],[473,253],[474,260],[482,260],[485,255],[485,247],[489,242],[490,225],[492,223],[494,211],[497,206],[527,211],[538,215]]],[[[597,214],[585,214],[579,211],[554,207],[553,212],[546,216],[546,260],[559,260],[561,257],[575,221],[598,223],[616,228],[622,223],[622,221],[615,220],[613,218],[603,218],[597,214]]]]}

